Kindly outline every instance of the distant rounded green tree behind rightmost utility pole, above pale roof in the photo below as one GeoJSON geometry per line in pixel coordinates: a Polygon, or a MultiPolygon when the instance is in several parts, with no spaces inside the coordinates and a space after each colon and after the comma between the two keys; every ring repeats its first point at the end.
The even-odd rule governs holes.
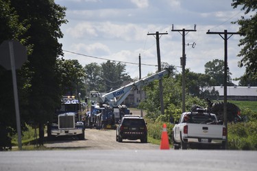
{"type": "MultiPolygon", "coordinates": [[[[224,84],[224,61],[223,60],[216,59],[216,60],[207,62],[204,65],[204,68],[205,68],[205,74],[209,75],[211,79],[215,80],[214,85],[212,86],[220,86],[221,84],[224,84]]],[[[230,70],[228,68],[227,83],[228,83],[228,86],[234,86],[230,75],[232,75],[232,73],[230,73],[230,70]]]]}

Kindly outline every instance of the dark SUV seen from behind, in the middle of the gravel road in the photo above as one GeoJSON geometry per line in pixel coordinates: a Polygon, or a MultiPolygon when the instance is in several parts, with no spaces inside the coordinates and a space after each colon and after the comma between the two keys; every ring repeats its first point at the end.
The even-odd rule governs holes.
{"type": "Polygon", "coordinates": [[[135,115],[123,116],[116,130],[116,141],[122,142],[123,139],[140,139],[140,142],[147,143],[147,125],[145,120],[135,115]]]}

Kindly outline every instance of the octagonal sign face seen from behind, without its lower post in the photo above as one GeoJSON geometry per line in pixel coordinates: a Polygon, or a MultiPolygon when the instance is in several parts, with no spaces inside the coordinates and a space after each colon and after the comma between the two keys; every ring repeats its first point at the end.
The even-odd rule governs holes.
{"type": "Polygon", "coordinates": [[[27,50],[17,40],[5,40],[0,46],[0,65],[7,70],[11,70],[11,53],[14,56],[15,69],[21,68],[25,61],[27,61],[27,50]],[[12,43],[13,52],[10,51],[10,43],[12,43]]]}

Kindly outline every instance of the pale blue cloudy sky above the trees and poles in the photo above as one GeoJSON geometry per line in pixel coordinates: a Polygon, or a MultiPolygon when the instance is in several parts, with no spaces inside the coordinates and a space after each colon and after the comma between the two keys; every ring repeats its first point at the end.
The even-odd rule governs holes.
{"type": "MultiPolygon", "coordinates": [[[[186,68],[204,73],[204,65],[215,59],[224,60],[224,40],[208,30],[238,31],[237,21],[244,15],[233,9],[232,0],[56,0],[65,6],[66,20],[60,39],[64,59],[78,60],[82,66],[92,62],[117,61],[126,65],[125,73],[132,79],[158,70],[156,38],[160,36],[160,60],[176,66],[182,73],[182,33],[173,29],[195,29],[186,32],[186,68]],[[196,27],[195,27],[196,25],[196,27]],[[195,44],[195,47],[192,47],[195,44]],[[71,53],[73,52],[73,53],[71,53]],[[77,53],[77,54],[75,54],[77,53]],[[82,54],[82,55],[79,55],[82,54]]],[[[241,77],[245,68],[238,67],[239,35],[228,39],[228,67],[232,79],[241,77]]],[[[238,81],[232,81],[238,83],[238,81]]]]}

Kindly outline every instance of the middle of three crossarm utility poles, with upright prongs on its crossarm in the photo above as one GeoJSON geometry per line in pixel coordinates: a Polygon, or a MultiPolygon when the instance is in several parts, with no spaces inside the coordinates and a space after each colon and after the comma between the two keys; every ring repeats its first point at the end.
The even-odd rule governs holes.
{"type": "MultiPolygon", "coordinates": [[[[196,28],[196,25],[195,25],[196,28]]],[[[182,65],[182,112],[186,111],[186,90],[185,90],[185,84],[186,84],[186,76],[185,76],[185,67],[186,67],[186,52],[185,52],[185,36],[189,33],[189,31],[196,31],[196,29],[172,29],[171,31],[178,31],[182,35],[182,58],[180,60],[180,63],[182,65]],[[181,33],[182,31],[182,33],[181,33]],[[187,31],[187,33],[186,33],[187,31]]]]}

